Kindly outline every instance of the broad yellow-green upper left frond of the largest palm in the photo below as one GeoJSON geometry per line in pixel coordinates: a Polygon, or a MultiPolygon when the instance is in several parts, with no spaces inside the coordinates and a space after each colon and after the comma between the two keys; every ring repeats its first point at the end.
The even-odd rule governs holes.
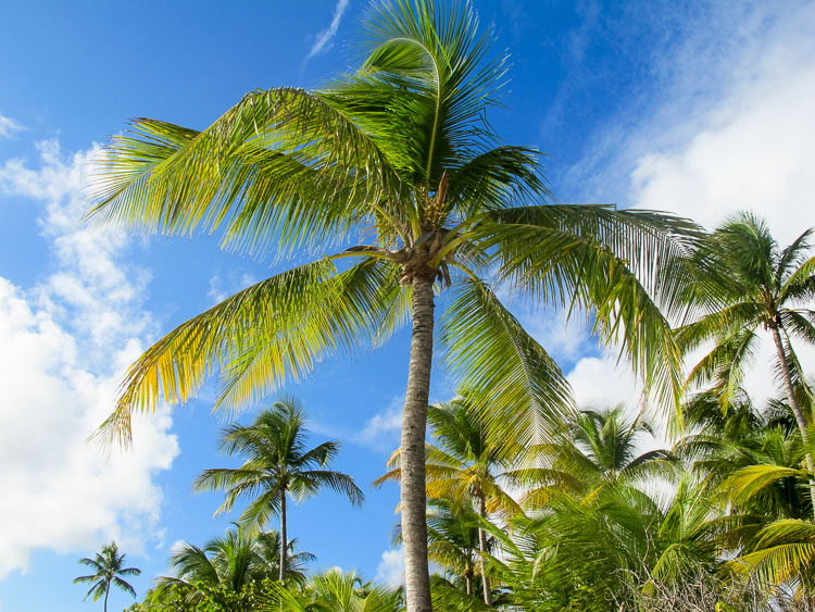
{"type": "Polygon", "coordinates": [[[292,88],[247,93],[201,133],[137,120],[97,172],[90,218],[167,234],[223,229],[226,246],[251,252],[276,236],[288,248],[321,243],[400,189],[354,122],[292,88]]]}

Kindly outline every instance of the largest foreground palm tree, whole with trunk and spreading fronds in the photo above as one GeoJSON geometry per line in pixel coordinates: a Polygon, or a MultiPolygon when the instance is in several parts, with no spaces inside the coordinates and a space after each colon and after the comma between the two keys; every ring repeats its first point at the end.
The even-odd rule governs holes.
{"type": "Polygon", "coordinates": [[[570,391],[501,303],[501,286],[591,309],[598,336],[622,344],[662,403],[678,402],[679,352],[651,296],[668,314],[678,308],[686,275],[657,272],[681,261],[695,226],[651,211],[543,205],[540,153],[501,143],[486,120],[505,58],[491,57],[467,2],[377,3],[361,45],[364,64],[321,90],[252,91],[203,132],[141,118],[114,138],[90,218],[166,234],[218,230],[224,247],[255,254],[275,245],[284,257],[338,250],[159,340],[129,369],[103,430],[127,441],[134,411],[150,410],[160,394],[188,400],[217,370],[217,405],[235,408],[412,320],[401,508],[409,610],[427,611],[434,340],[463,383],[489,392],[501,428],[523,439],[555,432],[570,391]],[[452,297],[437,334],[442,288],[452,297]]]}

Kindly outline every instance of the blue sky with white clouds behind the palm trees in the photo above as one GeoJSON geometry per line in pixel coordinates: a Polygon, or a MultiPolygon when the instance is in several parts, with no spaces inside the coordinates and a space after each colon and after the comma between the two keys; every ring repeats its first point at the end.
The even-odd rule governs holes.
{"type": "MultiPolygon", "coordinates": [[[[815,226],[815,3],[474,0],[511,54],[489,121],[539,148],[560,202],[673,211],[714,228],[764,215],[781,243],[815,226]]],[[[129,363],[178,323],[281,270],[218,250],[217,238],[135,237],[79,222],[87,161],[136,116],[203,128],[256,88],[318,87],[356,61],[366,0],[0,5],[0,611],[83,611],[77,561],[115,539],[143,595],[179,541],[220,535],[220,494],[197,495],[227,415],[213,389],[139,419],[127,453],[87,442],[129,363]]],[[[515,304],[580,405],[636,403],[625,364],[577,322],[515,304]]],[[[409,338],[327,359],[288,392],[310,440],[366,502],[331,492],[290,509],[316,567],[398,583],[390,541],[398,487],[372,489],[398,446],[409,338]]],[[[766,348],[766,351],[769,347],[766,348]]],[[[815,353],[801,349],[804,364],[815,353]]],[[[766,364],[768,352],[758,365],[766,364]]],[[[749,390],[775,392],[756,367],[749,390]]],[[[431,401],[454,384],[435,365],[431,401]]],[[[271,403],[274,398],[265,402],[271,403]]],[[[251,421],[253,410],[241,416],[251,421]]],[[[111,594],[111,610],[131,599],[111,594]]]]}

